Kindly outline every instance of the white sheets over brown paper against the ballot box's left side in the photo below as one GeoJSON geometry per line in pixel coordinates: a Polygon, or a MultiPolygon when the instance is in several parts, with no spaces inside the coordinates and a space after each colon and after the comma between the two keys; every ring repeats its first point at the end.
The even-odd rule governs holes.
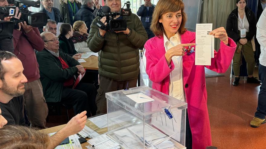
{"type": "Polygon", "coordinates": [[[107,114],[89,118],[86,126],[98,132],[100,135],[107,132],[107,114]]]}

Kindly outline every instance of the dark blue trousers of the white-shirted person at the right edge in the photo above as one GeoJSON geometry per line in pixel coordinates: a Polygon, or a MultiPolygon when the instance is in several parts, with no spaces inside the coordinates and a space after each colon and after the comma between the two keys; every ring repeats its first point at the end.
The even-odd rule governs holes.
{"type": "Polygon", "coordinates": [[[259,64],[259,78],[261,79],[261,87],[258,95],[258,107],[255,117],[265,119],[266,116],[266,67],[259,64]],[[264,81],[265,80],[265,81],[264,81]]]}

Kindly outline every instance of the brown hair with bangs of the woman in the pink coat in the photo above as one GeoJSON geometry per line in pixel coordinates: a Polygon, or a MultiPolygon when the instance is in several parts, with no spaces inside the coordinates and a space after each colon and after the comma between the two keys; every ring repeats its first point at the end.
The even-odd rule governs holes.
{"type": "Polygon", "coordinates": [[[159,22],[162,15],[168,12],[177,12],[181,10],[182,22],[178,29],[178,33],[181,35],[187,31],[185,24],[187,22],[187,14],[184,11],[185,5],[181,0],[159,0],[155,6],[152,21],[151,21],[151,31],[155,36],[159,38],[164,35],[164,26],[159,22]]]}

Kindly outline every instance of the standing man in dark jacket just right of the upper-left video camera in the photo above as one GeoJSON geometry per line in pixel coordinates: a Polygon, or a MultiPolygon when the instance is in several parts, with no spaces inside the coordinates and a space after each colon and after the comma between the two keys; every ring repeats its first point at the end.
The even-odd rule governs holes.
{"type": "MultiPolygon", "coordinates": [[[[56,23],[62,22],[64,23],[63,18],[61,17],[59,9],[53,7],[54,1],[53,0],[41,0],[42,5],[44,8],[42,8],[39,12],[43,12],[47,14],[47,18],[50,20],[56,21],[56,23]]],[[[43,32],[43,28],[38,28],[40,33],[43,32]]]]}

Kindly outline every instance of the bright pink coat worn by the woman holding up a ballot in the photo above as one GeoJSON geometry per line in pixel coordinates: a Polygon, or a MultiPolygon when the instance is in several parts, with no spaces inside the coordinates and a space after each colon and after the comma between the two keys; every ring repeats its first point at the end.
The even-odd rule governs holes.
{"type": "MultiPolygon", "coordinates": [[[[181,43],[195,43],[195,32],[186,31],[181,35],[181,43]]],[[[229,38],[229,46],[220,43],[220,50],[215,51],[211,66],[205,66],[217,73],[225,73],[234,56],[236,44],[229,38]]],[[[170,72],[174,70],[171,61],[170,68],[164,57],[164,39],[149,39],[144,45],[146,49],[146,72],[152,83],[152,88],[169,95],[170,72]]],[[[197,50],[197,49],[196,49],[197,50]]],[[[192,148],[205,149],[212,145],[209,114],[207,109],[207,91],[204,66],[195,65],[195,53],[183,56],[183,88],[186,95],[187,113],[192,133],[192,148]]]]}

